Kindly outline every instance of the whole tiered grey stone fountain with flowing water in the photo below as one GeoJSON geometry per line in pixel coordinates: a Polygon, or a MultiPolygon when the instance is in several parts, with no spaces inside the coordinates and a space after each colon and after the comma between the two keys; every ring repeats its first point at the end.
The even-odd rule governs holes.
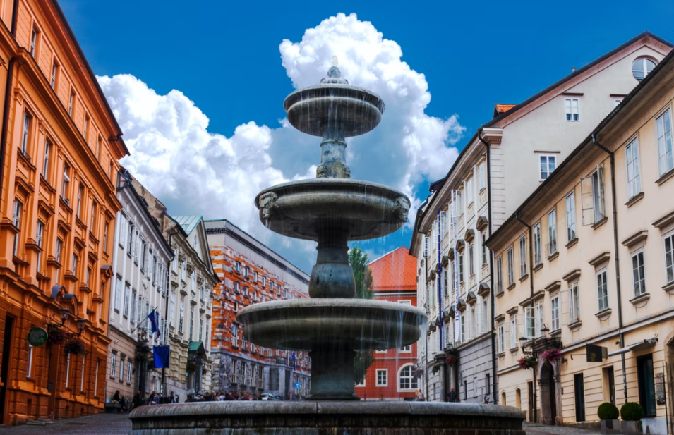
{"type": "MultiPolygon", "coordinates": [[[[355,350],[400,348],[419,340],[427,318],[410,305],[355,299],[349,240],[390,234],[407,221],[409,199],[385,185],[351,180],[346,137],[375,128],[384,103],[349,85],[337,61],[320,84],[291,93],[289,122],[323,137],[316,178],[260,192],[260,220],[276,233],[318,241],[309,299],[250,305],[237,319],[248,341],[267,348],[308,350],[311,396],[301,402],[185,403],[139,408],[132,435],[183,434],[524,434],[514,408],[469,403],[356,402],[355,350]],[[421,432],[420,432],[421,431],[421,432]],[[503,431],[503,432],[502,432],[503,431]]],[[[392,375],[396,379],[395,374],[392,375]]]]}

